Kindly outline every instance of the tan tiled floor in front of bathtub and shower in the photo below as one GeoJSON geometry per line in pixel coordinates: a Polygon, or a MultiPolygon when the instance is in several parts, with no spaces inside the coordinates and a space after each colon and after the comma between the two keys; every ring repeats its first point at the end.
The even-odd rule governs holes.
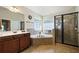
{"type": "Polygon", "coordinates": [[[79,53],[78,47],[59,44],[31,46],[22,53],[79,53]]]}

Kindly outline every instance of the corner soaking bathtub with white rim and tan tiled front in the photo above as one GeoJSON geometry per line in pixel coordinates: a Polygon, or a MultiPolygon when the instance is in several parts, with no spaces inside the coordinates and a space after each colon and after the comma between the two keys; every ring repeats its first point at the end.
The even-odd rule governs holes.
{"type": "Polygon", "coordinates": [[[36,34],[36,35],[31,35],[32,39],[32,45],[33,46],[38,46],[38,45],[49,45],[53,44],[53,35],[52,34],[36,34]]]}

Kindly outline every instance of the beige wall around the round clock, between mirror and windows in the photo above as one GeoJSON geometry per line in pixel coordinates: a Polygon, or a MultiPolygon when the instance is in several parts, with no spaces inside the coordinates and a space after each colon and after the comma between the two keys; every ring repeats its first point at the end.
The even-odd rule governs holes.
{"type": "Polygon", "coordinates": [[[28,8],[25,8],[23,6],[18,6],[17,7],[22,14],[24,14],[24,20],[25,20],[25,31],[27,31],[27,29],[33,29],[33,20],[34,18],[40,18],[40,15],[36,14],[35,12],[31,11],[30,9],[28,8]],[[31,15],[32,16],[32,19],[30,20],[28,18],[28,15],[31,15]],[[27,22],[30,22],[30,23],[26,23],[27,22]]]}

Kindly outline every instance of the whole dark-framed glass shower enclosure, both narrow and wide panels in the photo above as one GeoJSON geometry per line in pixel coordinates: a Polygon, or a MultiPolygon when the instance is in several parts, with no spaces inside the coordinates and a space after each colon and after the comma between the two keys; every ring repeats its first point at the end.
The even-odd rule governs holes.
{"type": "Polygon", "coordinates": [[[55,42],[78,46],[78,12],[55,16],[55,42]]]}

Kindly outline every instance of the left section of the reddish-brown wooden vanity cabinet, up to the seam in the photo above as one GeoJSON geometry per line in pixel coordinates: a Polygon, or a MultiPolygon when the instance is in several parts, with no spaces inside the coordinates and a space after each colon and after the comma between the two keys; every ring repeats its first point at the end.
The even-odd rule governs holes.
{"type": "Polygon", "coordinates": [[[17,52],[19,48],[19,40],[14,39],[13,36],[6,36],[0,38],[0,52],[13,53],[17,52]]]}

